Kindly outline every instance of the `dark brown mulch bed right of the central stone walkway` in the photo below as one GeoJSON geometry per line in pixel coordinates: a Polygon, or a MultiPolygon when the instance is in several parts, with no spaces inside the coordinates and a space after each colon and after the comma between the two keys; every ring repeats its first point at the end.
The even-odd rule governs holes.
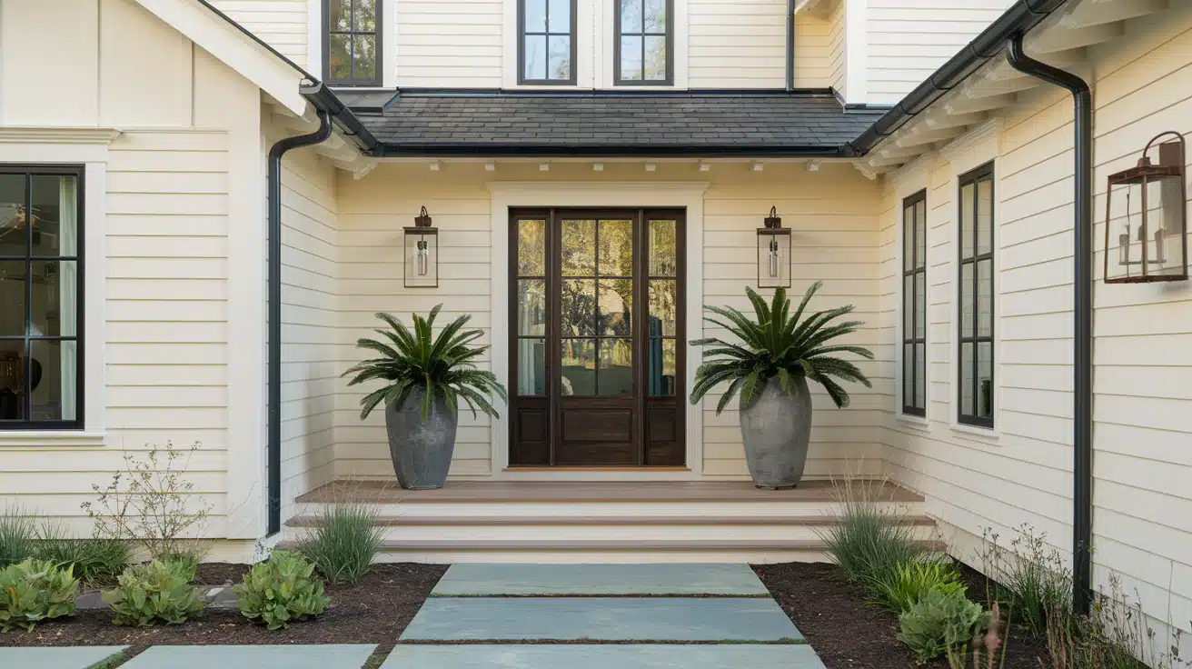
{"type": "MultiPolygon", "coordinates": [[[[877,605],[834,564],[758,564],[753,571],[799,631],[807,638],[827,669],[892,669],[915,667],[911,652],[894,634],[898,617],[877,605]]],[[[963,566],[969,593],[985,596],[985,577],[963,566]]],[[[1013,626],[1006,650],[1007,668],[1038,669],[1047,643],[1013,626]]],[[[946,668],[937,661],[931,668],[946,668]]]]}

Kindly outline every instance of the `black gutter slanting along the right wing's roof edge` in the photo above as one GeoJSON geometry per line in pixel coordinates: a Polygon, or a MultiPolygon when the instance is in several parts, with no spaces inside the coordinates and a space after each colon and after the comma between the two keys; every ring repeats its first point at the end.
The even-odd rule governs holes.
{"type": "Polygon", "coordinates": [[[1001,52],[1006,41],[1014,35],[1025,35],[1062,7],[1068,0],[1018,0],[981,31],[958,54],[952,56],[926,81],[877,119],[861,137],[849,143],[850,156],[863,156],[882,140],[889,137],[907,120],[926,110],[944,93],[964,81],[977,68],[1001,52]]]}

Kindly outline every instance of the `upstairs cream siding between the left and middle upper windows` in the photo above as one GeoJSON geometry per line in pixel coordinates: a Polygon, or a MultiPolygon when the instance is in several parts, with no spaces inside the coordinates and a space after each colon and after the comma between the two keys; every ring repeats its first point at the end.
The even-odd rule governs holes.
{"type": "Polygon", "coordinates": [[[396,63],[397,86],[501,88],[504,41],[517,39],[516,33],[503,35],[505,1],[516,2],[397,2],[397,55],[384,56],[396,63]]]}

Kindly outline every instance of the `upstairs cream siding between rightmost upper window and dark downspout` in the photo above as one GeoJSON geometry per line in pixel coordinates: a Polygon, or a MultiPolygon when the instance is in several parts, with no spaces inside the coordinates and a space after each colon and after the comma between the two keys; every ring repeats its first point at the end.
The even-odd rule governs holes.
{"type": "Polygon", "coordinates": [[[691,88],[782,88],[786,0],[688,0],[691,88]]]}

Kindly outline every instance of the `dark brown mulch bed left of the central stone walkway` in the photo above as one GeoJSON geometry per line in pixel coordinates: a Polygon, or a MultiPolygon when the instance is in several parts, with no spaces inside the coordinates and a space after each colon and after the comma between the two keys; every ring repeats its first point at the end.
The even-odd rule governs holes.
{"type": "MultiPolygon", "coordinates": [[[[238,583],[248,566],[203,564],[200,586],[238,583]]],[[[387,652],[397,643],[435,583],[447,571],[439,564],[375,564],[350,588],[327,586],[331,603],[317,621],[268,631],[236,611],[207,611],[184,625],[117,627],[107,609],[80,611],[74,618],[38,625],[30,633],[0,634],[0,646],[129,645],[136,655],[150,645],[379,644],[387,652]]]]}

